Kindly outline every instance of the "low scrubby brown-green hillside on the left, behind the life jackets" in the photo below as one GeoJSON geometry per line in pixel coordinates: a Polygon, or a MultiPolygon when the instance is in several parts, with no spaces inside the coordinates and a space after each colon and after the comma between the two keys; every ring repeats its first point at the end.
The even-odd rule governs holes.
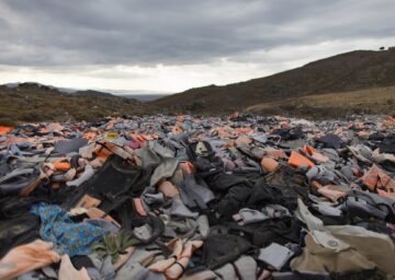
{"type": "Polygon", "coordinates": [[[143,114],[145,105],[109,93],[64,93],[36,83],[0,85],[0,125],[29,121],[92,120],[105,116],[143,114]]]}

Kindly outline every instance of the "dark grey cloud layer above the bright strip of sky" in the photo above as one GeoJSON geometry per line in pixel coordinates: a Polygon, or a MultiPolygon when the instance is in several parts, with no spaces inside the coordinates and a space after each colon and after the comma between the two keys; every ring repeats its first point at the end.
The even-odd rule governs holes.
{"type": "Polygon", "coordinates": [[[0,63],[184,65],[395,35],[393,0],[4,0],[0,63]]]}

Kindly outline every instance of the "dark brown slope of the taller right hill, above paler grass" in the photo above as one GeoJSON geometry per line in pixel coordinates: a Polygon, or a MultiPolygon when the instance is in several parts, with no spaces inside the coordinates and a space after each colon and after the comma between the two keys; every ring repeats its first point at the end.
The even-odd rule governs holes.
{"type": "Polygon", "coordinates": [[[395,50],[356,50],[266,78],[191,89],[151,105],[163,112],[226,114],[262,103],[391,85],[395,85],[395,50]]]}

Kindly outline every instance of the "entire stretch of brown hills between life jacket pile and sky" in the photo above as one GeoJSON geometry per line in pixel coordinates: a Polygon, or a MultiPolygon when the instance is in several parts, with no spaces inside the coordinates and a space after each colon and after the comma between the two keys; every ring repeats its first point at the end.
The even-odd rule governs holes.
{"type": "Polygon", "coordinates": [[[150,102],[38,83],[0,85],[0,125],[157,113],[244,110],[307,118],[394,113],[395,50],[351,51],[270,77],[191,89],[150,102]]]}

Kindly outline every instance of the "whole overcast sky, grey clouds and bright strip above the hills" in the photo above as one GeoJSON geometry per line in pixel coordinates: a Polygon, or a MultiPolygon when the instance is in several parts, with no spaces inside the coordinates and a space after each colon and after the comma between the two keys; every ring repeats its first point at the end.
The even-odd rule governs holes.
{"type": "Polygon", "coordinates": [[[174,93],[395,45],[395,0],[1,0],[0,83],[174,93]]]}

